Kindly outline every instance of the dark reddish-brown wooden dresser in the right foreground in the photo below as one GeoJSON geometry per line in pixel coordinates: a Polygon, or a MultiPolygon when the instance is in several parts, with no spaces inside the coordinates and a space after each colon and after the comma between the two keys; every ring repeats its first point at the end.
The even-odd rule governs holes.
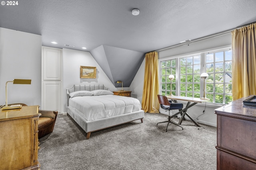
{"type": "Polygon", "coordinates": [[[256,169],[256,107],[244,105],[247,98],[215,109],[217,170],[256,169]]]}

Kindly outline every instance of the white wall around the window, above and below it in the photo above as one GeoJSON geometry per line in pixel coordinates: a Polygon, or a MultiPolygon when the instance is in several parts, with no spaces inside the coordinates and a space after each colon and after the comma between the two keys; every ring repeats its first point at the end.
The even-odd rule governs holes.
{"type": "MultiPolygon", "coordinates": [[[[169,49],[166,51],[162,51],[158,53],[159,59],[164,59],[166,57],[172,57],[177,55],[184,55],[187,53],[193,53],[197,51],[204,51],[207,49],[214,49],[218,47],[224,47],[231,45],[231,33],[226,35],[221,35],[218,37],[214,37],[205,41],[200,41],[197,43],[192,43],[190,45],[184,45],[181,47],[176,47],[174,49],[169,49]]],[[[136,94],[137,98],[142,101],[142,92],[143,92],[143,82],[144,82],[144,73],[145,73],[145,61],[141,64],[132,84],[130,86],[130,90],[136,94]]],[[[159,79],[160,80],[160,79],[159,79]]],[[[159,86],[161,87],[161,86],[159,86]]],[[[179,101],[180,102],[180,101],[179,101]]],[[[186,103],[184,103],[186,106],[186,103]]],[[[217,126],[217,116],[214,113],[214,109],[220,106],[212,106],[210,104],[206,104],[206,109],[204,111],[204,104],[196,104],[195,106],[188,109],[188,113],[193,119],[196,119],[199,115],[201,115],[204,111],[204,114],[198,117],[196,120],[199,123],[204,123],[206,125],[217,126]]],[[[167,112],[160,109],[160,113],[168,114],[167,112]]]]}

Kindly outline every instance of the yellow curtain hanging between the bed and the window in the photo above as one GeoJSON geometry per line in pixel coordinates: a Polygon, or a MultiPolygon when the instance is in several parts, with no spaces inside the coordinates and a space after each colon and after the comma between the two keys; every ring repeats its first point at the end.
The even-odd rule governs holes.
{"type": "Polygon", "coordinates": [[[142,109],[149,113],[159,113],[159,102],[157,98],[159,92],[158,53],[146,53],[145,60],[142,109]]]}

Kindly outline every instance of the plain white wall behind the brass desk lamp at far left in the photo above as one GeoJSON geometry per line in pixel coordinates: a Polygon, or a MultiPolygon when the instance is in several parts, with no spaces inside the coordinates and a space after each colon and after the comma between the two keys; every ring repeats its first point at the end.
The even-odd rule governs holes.
{"type": "Polygon", "coordinates": [[[41,105],[41,35],[0,27],[0,105],[5,104],[5,86],[14,79],[31,84],[8,83],[8,104],[41,105]]]}

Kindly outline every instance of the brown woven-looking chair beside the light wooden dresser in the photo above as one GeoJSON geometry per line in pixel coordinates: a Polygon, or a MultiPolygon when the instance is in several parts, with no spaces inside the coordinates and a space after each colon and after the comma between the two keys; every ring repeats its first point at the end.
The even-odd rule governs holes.
{"type": "Polygon", "coordinates": [[[58,115],[58,111],[40,110],[39,121],[38,121],[38,139],[45,135],[52,133],[55,121],[58,115]]]}

